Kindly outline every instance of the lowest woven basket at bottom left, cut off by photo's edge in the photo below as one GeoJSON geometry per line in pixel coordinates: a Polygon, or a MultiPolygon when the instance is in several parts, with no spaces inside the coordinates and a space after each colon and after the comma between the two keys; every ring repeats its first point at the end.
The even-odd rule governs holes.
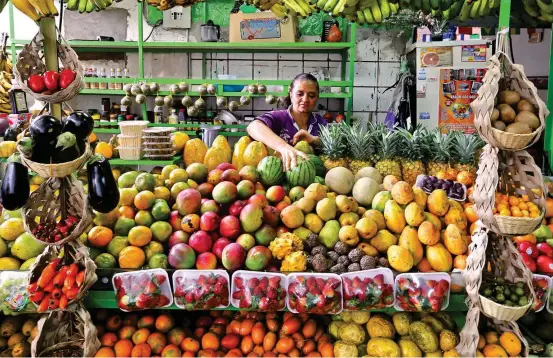
{"type": "Polygon", "coordinates": [[[67,357],[69,352],[93,357],[101,347],[96,326],[80,304],[72,310],[44,315],[37,327],[39,333],[31,344],[32,357],[67,357]]]}

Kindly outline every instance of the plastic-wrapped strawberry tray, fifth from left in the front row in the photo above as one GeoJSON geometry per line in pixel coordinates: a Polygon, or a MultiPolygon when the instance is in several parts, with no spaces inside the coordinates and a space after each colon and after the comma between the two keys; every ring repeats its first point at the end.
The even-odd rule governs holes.
{"type": "Polygon", "coordinates": [[[394,305],[394,273],[387,268],[343,273],[344,311],[367,311],[394,305]]]}

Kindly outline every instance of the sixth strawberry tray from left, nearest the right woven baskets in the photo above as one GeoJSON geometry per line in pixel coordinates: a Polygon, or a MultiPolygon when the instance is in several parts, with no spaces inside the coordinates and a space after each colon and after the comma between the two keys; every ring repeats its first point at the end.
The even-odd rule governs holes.
{"type": "Polygon", "coordinates": [[[394,308],[409,312],[439,312],[449,305],[451,277],[447,273],[402,273],[396,276],[394,308]]]}

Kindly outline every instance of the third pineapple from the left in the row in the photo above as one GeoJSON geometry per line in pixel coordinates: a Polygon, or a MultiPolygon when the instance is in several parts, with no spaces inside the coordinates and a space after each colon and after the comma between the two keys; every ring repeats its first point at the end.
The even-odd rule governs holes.
{"type": "Polygon", "coordinates": [[[401,165],[397,159],[399,139],[399,132],[386,127],[377,128],[374,144],[379,159],[374,167],[383,177],[393,175],[401,180],[401,165]]]}

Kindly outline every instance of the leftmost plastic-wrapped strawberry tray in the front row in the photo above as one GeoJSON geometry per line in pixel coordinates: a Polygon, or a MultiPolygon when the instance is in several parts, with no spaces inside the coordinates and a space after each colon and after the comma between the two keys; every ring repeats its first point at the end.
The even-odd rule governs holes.
{"type": "Polygon", "coordinates": [[[125,312],[173,304],[169,276],[163,269],[121,272],[111,279],[119,309],[125,312]]]}

